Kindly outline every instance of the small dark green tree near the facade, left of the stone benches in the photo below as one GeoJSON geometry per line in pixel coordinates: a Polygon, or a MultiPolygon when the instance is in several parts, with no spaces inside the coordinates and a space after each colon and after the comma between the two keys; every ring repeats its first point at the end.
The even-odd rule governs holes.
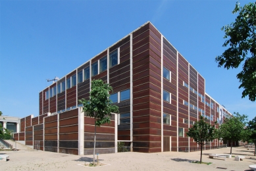
{"type": "MultiPolygon", "coordinates": [[[[215,123],[216,124],[216,123],[215,123]]],[[[201,147],[200,164],[202,162],[203,146],[206,142],[213,141],[215,139],[215,125],[207,123],[206,119],[200,116],[200,120],[193,124],[192,128],[186,132],[187,136],[193,138],[195,142],[201,147]]]]}

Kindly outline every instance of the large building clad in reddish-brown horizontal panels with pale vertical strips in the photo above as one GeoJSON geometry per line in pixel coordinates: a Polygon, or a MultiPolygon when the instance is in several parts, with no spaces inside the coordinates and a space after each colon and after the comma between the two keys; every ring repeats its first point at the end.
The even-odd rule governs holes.
{"type": "MultiPolygon", "coordinates": [[[[79,119],[82,115],[78,100],[89,98],[93,79],[102,79],[113,87],[111,100],[120,111],[117,117],[113,117],[117,130],[116,126],[109,129],[107,125],[97,130],[102,136],[97,140],[99,149],[116,148],[116,142],[125,142],[131,151],[185,151],[197,147],[186,132],[199,115],[207,118],[209,123],[222,123],[231,115],[205,92],[202,75],[153,24],[147,22],[39,92],[39,116],[21,120],[20,130],[23,132],[28,128],[24,127],[25,120],[30,123],[30,145],[40,140],[40,147],[46,151],[60,152],[61,148],[66,148],[66,151],[81,151],[75,154],[89,154],[86,150],[91,149],[93,141],[87,137],[91,136],[93,123],[86,117],[84,121],[79,119]],[[60,120],[74,110],[77,110],[74,113],[78,120],[60,120]],[[36,124],[31,124],[34,121],[36,124]],[[38,124],[44,125],[44,128],[40,127],[43,130],[40,134],[35,133],[38,124]],[[33,125],[33,134],[39,137],[33,138],[33,125]],[[74,125],[76,128],[72,130],[74,125]],[[84,130],[81,132],[78,127],[84,130]],[[74,136],[76,134],[78,136],[74,136]],[[115,138],[107,140],[107,135],[115,138]]],[[[222,142],[214,140],[207,148],[217,145],[222,145],[222,142]]]]}

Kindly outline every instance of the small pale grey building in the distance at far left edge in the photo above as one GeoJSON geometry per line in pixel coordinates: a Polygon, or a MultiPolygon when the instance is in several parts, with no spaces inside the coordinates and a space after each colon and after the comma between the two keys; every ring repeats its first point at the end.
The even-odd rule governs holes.
{"type": "Polygon", "coordinates": [[[18,117],[1,116],[0,124],[3,128],[11,130],[12,132],[20,132],[20,118],[18,117]]]}

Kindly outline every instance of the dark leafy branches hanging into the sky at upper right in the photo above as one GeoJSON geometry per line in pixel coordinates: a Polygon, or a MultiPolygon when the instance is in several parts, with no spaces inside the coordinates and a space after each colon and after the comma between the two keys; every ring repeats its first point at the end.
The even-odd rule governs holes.
{"type": "Polygon", "coordinates": [[[215,61],[218,67],[237,68],[243,62],[243,69],[236,77],[243,88],[242,98],[249,96],[252,102],[256,99],[256,2],[240,7],[237,2],[233,10],[239,13],[236,22],[232,22],[221,29],[225,31],[226,41],[222,47],[228,47],[215,61]],[[228,38],[228,39],[227,39],[228,38]]]}

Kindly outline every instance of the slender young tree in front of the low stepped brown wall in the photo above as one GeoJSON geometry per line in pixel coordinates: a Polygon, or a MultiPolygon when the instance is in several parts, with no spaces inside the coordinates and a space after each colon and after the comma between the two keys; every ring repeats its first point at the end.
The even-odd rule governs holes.
{"type": "Polygon", "coordinates": [[[113,88],[105,84],[102,80],[91,81],[90,99],[78,100],[83,105],[83,111],[88,117],[93,117],[95,121],[94,129],[94,148],[93,148],[93,165],[95,164],[95,143],[96,143],[96,126],[111,123],[111,113],[118,113],[118,107],[112,104],[109,99],[109,92],[113,88]]]}

